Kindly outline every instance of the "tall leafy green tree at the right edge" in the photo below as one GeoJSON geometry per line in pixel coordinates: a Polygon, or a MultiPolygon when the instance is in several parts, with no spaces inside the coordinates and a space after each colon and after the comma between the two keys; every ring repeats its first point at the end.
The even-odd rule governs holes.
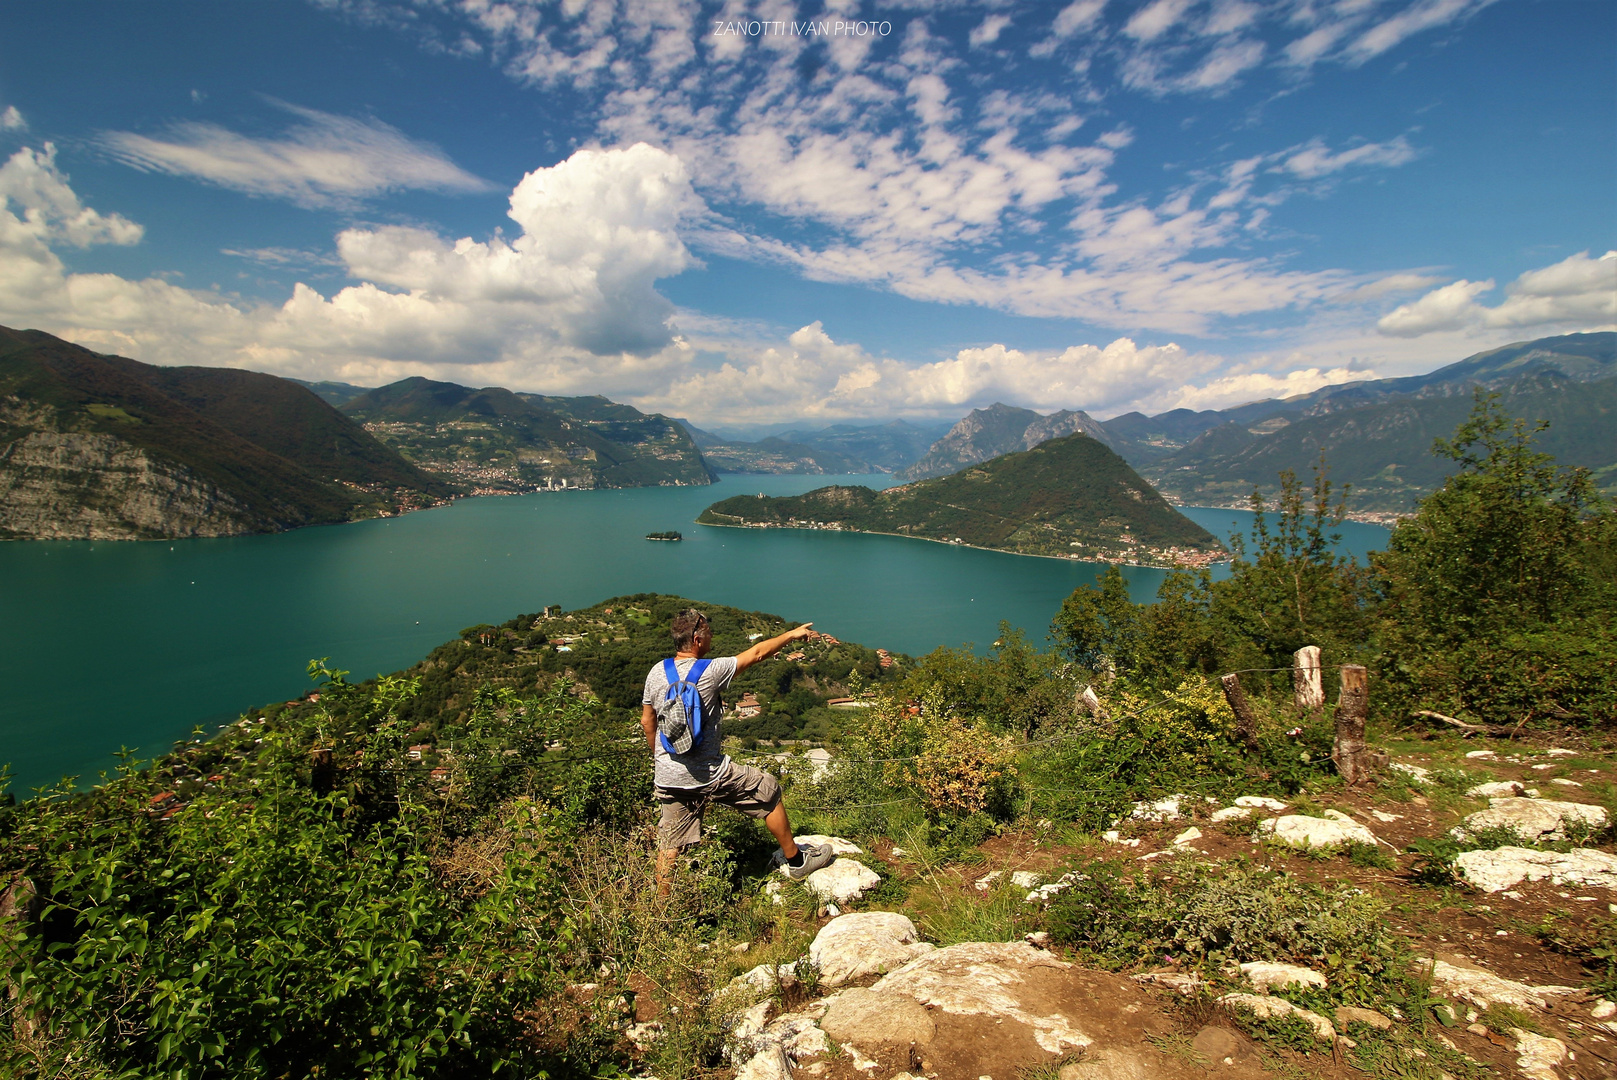
{"type": "Polygon", "coordinates": [[[1383,669],[1400,708],[1494,723],[1617,715],[1612,511],[1533,448],[1547,424],[1478,390],[1433,453],[1459,462],[1373,559],[1383,669]]]}

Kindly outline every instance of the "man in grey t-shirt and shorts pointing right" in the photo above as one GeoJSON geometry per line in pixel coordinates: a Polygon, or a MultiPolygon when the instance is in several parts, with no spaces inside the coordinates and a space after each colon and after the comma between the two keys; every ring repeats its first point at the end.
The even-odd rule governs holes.
{"type": "MultiPolygon", "coordinates": [[[[674,673],[684,679],[692,666],[707,656],[713,645],[713,629],[707,616],[695,608],[686,608],[674,616],[674,673]]],[[[653,784],[663,820],[657,829],[657,891],[668,896],[674,860],[679,852],[702,839],[702,812],[708,804],[733,807],[749,818],[763,818],[786,857],[786,873],[792,880],[831,862],[831,849],[823,844],[797,846],[792,839],[792,823],[781,804],[781,784],[773,776],[750,765],[731,761],[720,747],[720,711],[724,708],[721,694],[736,677],[760,660],[779,652],[787,642],[813,634],[813,622],[804,622],[779,637],[758,642],[739,656],[713,660],[695,682],[702,697],[702,732],[684,753],[671,753],[658,736],[658,721],[668,715],[674,702],[668,695],[666,664],[657,664],[645,676],[645,694],[640,698],[640,728],[652,747],[653,784]]]]}

